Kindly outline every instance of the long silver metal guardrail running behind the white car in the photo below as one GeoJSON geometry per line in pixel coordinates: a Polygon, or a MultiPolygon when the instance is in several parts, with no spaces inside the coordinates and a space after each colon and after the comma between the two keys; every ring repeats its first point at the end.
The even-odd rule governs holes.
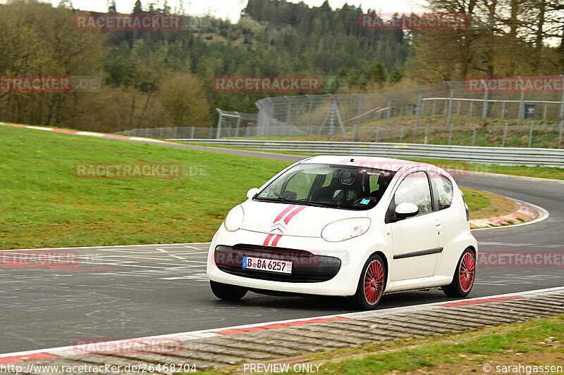
{"type": "Polygon", "coordinates": [[[312,154],[367,155],[386,158],[429,158],[463,160],[469,163],[495,165],[564,167],[564,150],[553,148],[501,148],[374,142],[254,141],[245,139],[167,140],[312,154]]]}

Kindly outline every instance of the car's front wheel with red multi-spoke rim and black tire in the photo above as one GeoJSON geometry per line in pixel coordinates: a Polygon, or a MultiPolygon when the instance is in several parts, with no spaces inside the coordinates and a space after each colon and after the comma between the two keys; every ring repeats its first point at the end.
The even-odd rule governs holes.
{"type": "Polygon", "coordinates": [[[386,267],[380,255],[372,255],[362,267],[358,279],[355,302],[362,310],[373,310],[380,302],[386,288],[386,267]]]}

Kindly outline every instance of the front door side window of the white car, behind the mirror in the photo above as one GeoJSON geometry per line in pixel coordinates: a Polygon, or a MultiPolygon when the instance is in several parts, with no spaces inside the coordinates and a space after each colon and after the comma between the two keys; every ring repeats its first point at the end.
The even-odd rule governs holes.
{"type": "Polygon", "coordinates": [[[431,189],[429,189],[429,179],[425,172],[415,172],[407,175],[398,186],[396,194],[393,196],[396,207],[400,203],[414,203],[419,207],[417,215],[423,215],[433,210],[431,203],[431,189]]]}

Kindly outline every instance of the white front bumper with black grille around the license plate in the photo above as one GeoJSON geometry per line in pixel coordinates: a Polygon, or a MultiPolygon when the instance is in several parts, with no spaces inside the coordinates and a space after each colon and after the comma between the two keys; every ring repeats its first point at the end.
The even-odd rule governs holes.
{"type": "Polygon", "coordinates": [[[314,295],[356,293],[362,266],[370,253],[366,243],[363,246],[362,236],[340,243],[314,237],[283,236],[277,247],[264,246],[265,237],[264,233],[245,229],[228,232],[222,225],[209,248],[208,278],[223,284],[265,291],[314,295]],[[288,251],[286,255],[283,255],[284,250],[288,251]],[[221,255],[216,258],[216,253],[221,255]],[[303,257],[303,261],[297,267],[293,260],[292,275],[275,274],[243,269],[243,254],[260,254],[258,258],[266,259],[286,256],[292,260],[294,256],[295,260],[303,257]]]}

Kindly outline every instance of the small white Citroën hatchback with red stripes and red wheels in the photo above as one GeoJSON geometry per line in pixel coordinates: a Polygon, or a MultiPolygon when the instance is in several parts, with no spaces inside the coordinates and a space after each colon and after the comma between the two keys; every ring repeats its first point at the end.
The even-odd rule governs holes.
{"type": "Polygon", "coordinates": [[[388,158],[317,156],[290,165],[235,206],[209,248],[221,299],[247,291],[354,296],[472,289],[477,241],[453,177],[388,158]]]}

